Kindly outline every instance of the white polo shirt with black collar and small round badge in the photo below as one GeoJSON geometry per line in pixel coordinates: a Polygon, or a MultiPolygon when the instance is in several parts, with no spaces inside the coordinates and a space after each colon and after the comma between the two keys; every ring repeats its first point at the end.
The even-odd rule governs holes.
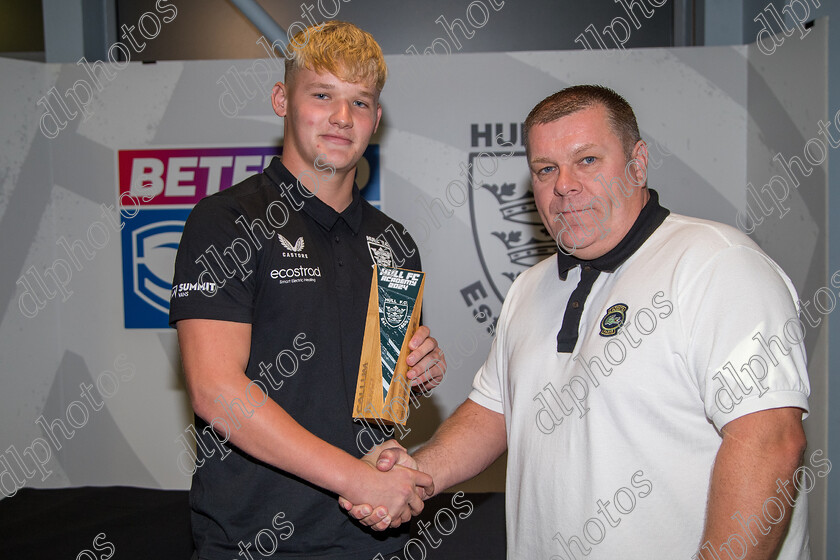
{"type": "MultiPolygon", "coordinates": [[[[652,195],[636,234],[657,211],[667,215],[652,195]]],[[[505,416],[508,558],[690,560],[719,430],[759,410],[807,411],[804,334],[788,277],[734,228],[659,221],[635,246],[616,248],[629,256],[601,272],[574,309],[581,266],[561,280],[557,255],[508,292],[470,394],[505,416]],[[571,351],[558,351],[564,315],[573,320],[575,310],[577,339],[573,332],[571,351]]],[[[806,498],[799,493],[780,559],[808,557],[806,498]]],[[[745,522],[751,547],[748,531],[760,538],[758,523],[770,522],[745,522]]]]}

